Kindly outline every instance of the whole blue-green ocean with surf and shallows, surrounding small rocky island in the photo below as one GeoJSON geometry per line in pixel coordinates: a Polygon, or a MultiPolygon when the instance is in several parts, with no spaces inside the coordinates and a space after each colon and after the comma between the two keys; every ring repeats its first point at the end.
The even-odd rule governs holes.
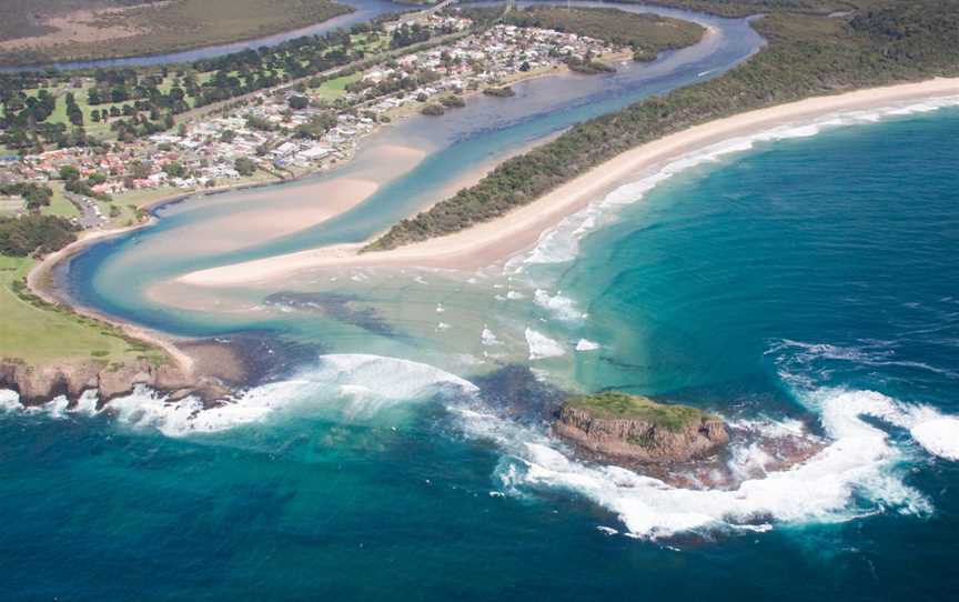
{"type": "Polygon", "coordinates": [[[8,395],[4,599],[955,596],[946,104],[637,174],[506,265],[224,293],[233,323],[322,348],[235,405],[8,395]],[[724,415],[748,433],[731,481],[577,459],[549,412],[604,389],[724,415]],[[818,453],[776,470],[776,442],[818,453]]]}

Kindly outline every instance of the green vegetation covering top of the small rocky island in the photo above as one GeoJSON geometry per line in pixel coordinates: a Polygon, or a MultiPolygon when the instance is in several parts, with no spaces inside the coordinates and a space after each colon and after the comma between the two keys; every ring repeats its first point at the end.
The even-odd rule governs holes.
{"type": "Polygon", "coordinates": [[[716,418],[689,405],[656,403],[649,398],[616,391],[575,395],[567,399],[563,407],[583,410],[605,420],[639,420],[669,431],[679,431],[716,418]]]}

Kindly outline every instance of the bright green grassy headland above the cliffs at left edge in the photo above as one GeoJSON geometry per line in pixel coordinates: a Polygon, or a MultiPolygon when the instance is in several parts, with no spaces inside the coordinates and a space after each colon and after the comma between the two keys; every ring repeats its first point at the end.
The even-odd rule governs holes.
{"type": "Polygon", "coordinates": [[[113,363],[138,357],[162,361],[160,351],[125,339],[113,327],[21,298],[17,283],[34,263],[0,255],[0,358],[30,364],[89,359],[113,363]]]}

